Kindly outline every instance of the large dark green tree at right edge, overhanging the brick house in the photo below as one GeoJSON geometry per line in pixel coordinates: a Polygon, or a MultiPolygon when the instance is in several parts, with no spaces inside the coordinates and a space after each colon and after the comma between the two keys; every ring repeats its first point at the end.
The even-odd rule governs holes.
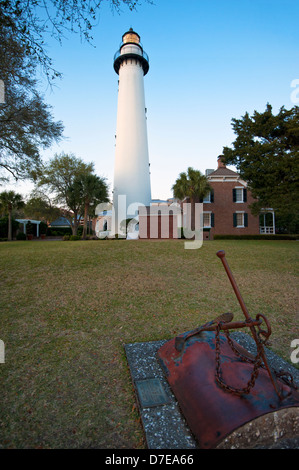
{"type": "Polygon", "coordinates": [[[254,111],[232,119],[237,135],[232,148],[224,147],[225,163],[235,165],[257,198],[252,212],[273,208],[278,216],[298,217],[299,211],[299,107],[281,107],[272,113],[254,111]]]}

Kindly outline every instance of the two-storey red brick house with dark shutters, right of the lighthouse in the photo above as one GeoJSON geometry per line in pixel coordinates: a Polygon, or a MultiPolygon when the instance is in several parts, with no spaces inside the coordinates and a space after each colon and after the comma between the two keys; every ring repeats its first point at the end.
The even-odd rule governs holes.
{"type": "Polygon", "coordinates": [[[212,191],[203,200],[203,225],[210,229],[204,232],[204,239],[215,234],[259,234],[259,217],[249,209],[254,199],[240,175],[226,168],[220,156],[217,170],[207,170],[207,178],[212,191]]]}

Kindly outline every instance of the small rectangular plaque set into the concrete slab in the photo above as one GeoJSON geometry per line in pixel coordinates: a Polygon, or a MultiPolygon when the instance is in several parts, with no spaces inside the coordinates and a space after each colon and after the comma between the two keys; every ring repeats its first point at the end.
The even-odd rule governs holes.
{"type": "Polygon", "coordinates": [[[165,405],[168,403],[169,399],[160,379],[136,380],[135,385],[142,408],[165,405]]]}

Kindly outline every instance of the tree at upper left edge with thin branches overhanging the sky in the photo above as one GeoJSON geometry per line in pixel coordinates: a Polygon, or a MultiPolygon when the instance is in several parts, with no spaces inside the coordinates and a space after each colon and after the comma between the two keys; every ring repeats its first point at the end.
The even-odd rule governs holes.
{"type": "MultiPolygon", "coordinates": [[[[122,5],[134,10],[138,4],[138,0],[110,0],[117,12],[122,5]]],[[[62,123],[53,121],[51,108],[37,92],[37,66],[49,83],[61,77],[48,55],[47,36],[61,42],[66,33],[78,33],[91,42],[101,5],[102,0],[0,2],[0,79],[5,86],[5,103],[0,103],[0,168],[6,170],[0,181],[8,181],[5,175],[36,179],[40,148],[61,138],[62,123]]]]}

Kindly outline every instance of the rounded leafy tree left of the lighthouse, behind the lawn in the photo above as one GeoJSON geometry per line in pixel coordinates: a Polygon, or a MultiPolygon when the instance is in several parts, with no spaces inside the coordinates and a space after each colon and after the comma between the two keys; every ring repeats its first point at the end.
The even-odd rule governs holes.
{"type": "Polygon", "coordinates": [[[53,194],[56,204],[72,211],[72,217],[68,219],[72,223],[73,235],[77,234],[78,216],[82,207],[81,186],[77,182],[92,172],[93,163],[85,163],[73,154],[62,152],[44,166],[43,175],[38,181],[38,187],[44,187],[53,194]]]}

